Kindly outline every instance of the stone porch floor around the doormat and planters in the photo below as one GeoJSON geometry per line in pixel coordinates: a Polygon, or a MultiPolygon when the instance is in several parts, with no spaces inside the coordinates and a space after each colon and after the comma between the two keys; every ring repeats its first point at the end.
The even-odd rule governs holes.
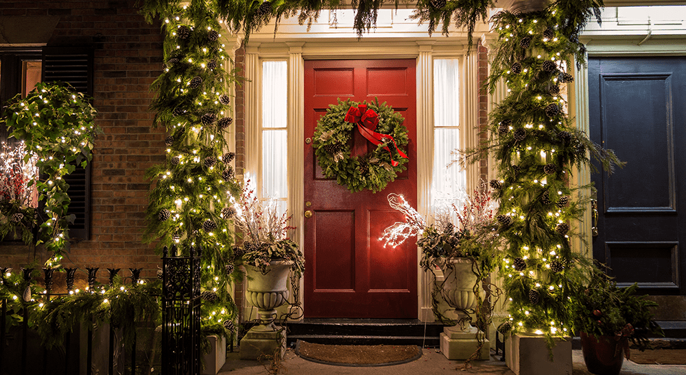
{"type": "MultiPolygon", "coordinates": [[[[345,374],[345,375],[416,375],[416,374],[484,374],[484,375],[513,375],[504,362],[498,361],[495,356],[491,356],[490,361],[473,361],[471,368],[464,372],[462,369],[463,361],[449,361],[443,354],[436,349],[424,349],[423,356],[413,362],[401,365],[381,366],[381,367],[343,367],[324,365],[306,361],[298,357],[292,349],[286,350],[285,358],[281,362],[280,374],[298,375],[322,375],[322,374],[345,374]]],[[[222,367],[218,375],[257,375],[271,374],[268,368],[269,361],[241,361],[239,353],[228,354],[226,364],[222,367]]],[[[574,363],[574,375],[591,375],[586,369],[581,350],[572,350],[574,363]]],[[[631,361],[624,361],[624,367],[620,375],[678,375],[686,374],[686,365],[639,365],[631,361]]]]}

